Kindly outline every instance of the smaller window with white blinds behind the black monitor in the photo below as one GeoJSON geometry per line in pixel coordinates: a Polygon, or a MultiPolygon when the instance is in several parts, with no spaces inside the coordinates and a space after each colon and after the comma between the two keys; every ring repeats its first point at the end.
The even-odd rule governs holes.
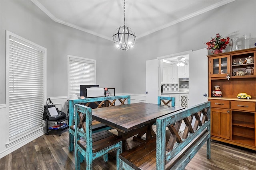
{"type": "Polygon", "coordinates": [[[80,85],[95,84],[96,60],[68,55],[68,96],[80,97],[80,85]]]}

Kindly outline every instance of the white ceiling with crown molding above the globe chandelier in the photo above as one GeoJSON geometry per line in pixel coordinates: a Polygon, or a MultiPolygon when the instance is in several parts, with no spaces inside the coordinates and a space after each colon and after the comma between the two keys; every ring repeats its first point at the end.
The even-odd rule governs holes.
{"type": "MultiPolygon", "coordinates": [[[[112,41],[124,25],[123,0],[31,0],[52,20],[112,41]]],[[[137,39],[234,0],[126,0],[126,26],[137,39]]]]}

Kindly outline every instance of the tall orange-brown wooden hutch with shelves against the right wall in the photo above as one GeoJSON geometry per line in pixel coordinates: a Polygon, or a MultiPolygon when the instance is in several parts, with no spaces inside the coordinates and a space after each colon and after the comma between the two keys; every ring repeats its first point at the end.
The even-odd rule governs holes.
{"type": "Polygon", "coordinates": [[[207,57],[211,139],[256,150],[256,48],[207,57]],[[249,56],[252,62],[246,63],[249,56]],[[236,75],[248,66],[254,69],[252,75],[243,75],[241,71],[236,75]],[[215,86],[220,86],[222,97],[212,97],[215,86]],[[252,98],[238,99],[236,96],[242,92],[252,98]]]}

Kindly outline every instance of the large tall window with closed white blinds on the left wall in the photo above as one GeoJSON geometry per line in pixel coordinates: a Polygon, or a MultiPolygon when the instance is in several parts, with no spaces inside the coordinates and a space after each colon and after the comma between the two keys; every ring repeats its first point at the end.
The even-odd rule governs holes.
{"type": "Polygon", "coordinates": [[[6,108],[9,142],[42,128],[46,49],[6,31],[6,108]]]}

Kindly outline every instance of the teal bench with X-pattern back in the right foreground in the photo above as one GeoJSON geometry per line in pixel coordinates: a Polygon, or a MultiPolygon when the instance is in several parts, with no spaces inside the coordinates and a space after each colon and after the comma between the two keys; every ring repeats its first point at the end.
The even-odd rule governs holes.
{"type": "Polygon", "coordinates": [[[205,142],[210,159],[210,102],[156,119],[156,137],[122,152],[120,169],[182,170],[205,142]]]}

